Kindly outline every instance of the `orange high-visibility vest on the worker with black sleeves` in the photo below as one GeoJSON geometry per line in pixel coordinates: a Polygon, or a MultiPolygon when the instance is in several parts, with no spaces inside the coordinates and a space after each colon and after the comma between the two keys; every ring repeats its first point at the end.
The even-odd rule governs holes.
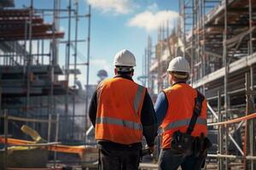
{"type": "Polygon", "coordinates": [[[115,77],[97,88],[96,139],[134,144],[143,139],[141,110],[146,88],[115,77]]]}

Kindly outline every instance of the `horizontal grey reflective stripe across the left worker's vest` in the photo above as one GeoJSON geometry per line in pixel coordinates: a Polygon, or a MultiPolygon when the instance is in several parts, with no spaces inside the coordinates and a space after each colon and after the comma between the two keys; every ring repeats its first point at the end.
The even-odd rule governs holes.
{"type": "Polygon", "coordinates": [[[140,123],[124,121],[122,119],[116,119],[116,118],[110,118],[110,117],[97,117],[96,123],[119,125],[119,126],[123,126],[123,127],[129,127],[129,128],[135,129],[135,130],[143,129],[143,127],[140,123]]]}

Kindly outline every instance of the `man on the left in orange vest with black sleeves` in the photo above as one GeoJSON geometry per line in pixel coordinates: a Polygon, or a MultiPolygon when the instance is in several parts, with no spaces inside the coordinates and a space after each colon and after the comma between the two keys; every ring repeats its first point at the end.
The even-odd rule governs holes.
{"type": "Polygon", "coordinates": [[[115,77],[102,81],[90,102],[90,122],[100,152],[100,169],[138,169],[142,139],[154,151],[157,122],[147,88],[133,82],[136,59],[123,49],[114,56],[115,77]]]}

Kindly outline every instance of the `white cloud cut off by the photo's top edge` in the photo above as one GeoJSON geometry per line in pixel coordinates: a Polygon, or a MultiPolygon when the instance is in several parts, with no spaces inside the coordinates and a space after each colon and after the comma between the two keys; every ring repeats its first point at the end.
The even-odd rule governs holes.
{"type": "Polygon", "coordinates": [[[113,12],[113,14],[128,14],[136,7],[131,0],[87,0],[87,3],[102,12],[113,12]]]}

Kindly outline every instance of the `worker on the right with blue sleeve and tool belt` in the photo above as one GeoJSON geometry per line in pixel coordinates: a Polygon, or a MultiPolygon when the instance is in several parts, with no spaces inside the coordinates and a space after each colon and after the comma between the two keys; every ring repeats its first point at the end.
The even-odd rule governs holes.
{"type": "Polygon", "coordinates": [[[172,86],[162,90],[155,103],[157,122],[163,130],[159,159],[160,170],[177,169],[179,166],[185,170],[201,169],[204,158],[198,155],[205,150],[197,148],[202,152],[193,153],[193,141],[195,138],[202,139],[198,141],[203,141],[202,144],[205,144],[207,101],[200,94],[201,108],[200,111],[197,111],[199,114],[195,116],[191,132],[191,129],[189,130],[190,121],[195,110],[195,99],[199,99],[197,98],[199,93],[186,83],[189,78],[189,62],[184,57],[172,59],[167,69],[167,75],[168,82],[172,86]],[[186,143],[186,139],[189,139],[189,143],[186,143]]]}

